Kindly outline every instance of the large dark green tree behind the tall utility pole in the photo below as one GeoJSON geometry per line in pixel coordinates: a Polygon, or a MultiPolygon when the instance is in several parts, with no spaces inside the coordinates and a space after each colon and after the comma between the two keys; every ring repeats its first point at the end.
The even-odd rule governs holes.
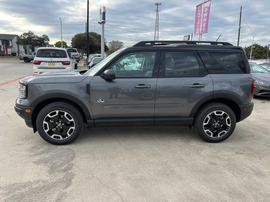
{"type": "MultiPolygon", "coordinates": [[[[95,32],[89,32],[89,54],[101,52],[101,35],[95,32]]],[[[81,53],[86,53],[86,33],[79,33],[72,37],[72,48],[78,49],[81,53]]],[[[107,45],[104,45],[105,51],[108,50],[107,45]]]]}

